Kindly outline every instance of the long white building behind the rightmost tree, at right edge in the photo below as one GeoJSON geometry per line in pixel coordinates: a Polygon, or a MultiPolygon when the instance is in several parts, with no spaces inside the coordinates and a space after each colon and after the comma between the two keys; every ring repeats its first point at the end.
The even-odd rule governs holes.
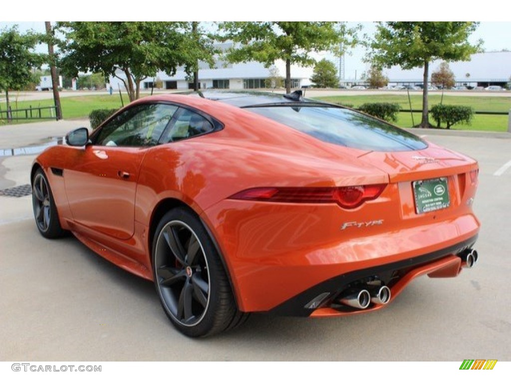
{"type": "MultiPolygon", "coordinates": [[[[436,60],[429,65],[429,79],[443,60],[436,60]]],[[[505,86],[511,81],[511,52],[485,52],[471,56],[470,61],[449,62],[457,85],[467,86],[505,86]]],[[[403,70],[392,66],[383,70],[389,78],[390,85],[422,84],[423,68],[403,70]]]]}

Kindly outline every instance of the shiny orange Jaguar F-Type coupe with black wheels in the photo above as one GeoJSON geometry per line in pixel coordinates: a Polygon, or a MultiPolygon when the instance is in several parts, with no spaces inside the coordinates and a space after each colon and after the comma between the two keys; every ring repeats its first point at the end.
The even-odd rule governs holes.
{"type": "Polygon", "coordinates": [[[416,276],[477,261],[477,162],[379,119],[301,97],[165,94],[41,153],[33,207],[153,280],[189,337],[249,313],[341,316],[416,276]]]}

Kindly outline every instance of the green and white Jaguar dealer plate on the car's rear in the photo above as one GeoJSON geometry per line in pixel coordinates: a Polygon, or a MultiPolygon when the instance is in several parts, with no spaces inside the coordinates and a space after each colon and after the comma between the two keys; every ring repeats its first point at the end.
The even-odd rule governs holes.
{"type": "Polygon", "coordinates": [[[446,177],[414,181],[412,186],[417,214],[449,207],[449,188],[446,177]]]}

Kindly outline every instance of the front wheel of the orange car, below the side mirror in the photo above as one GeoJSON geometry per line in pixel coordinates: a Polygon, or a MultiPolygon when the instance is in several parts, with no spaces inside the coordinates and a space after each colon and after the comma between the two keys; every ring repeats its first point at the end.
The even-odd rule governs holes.
{"type": "Polygon", "coordinates": [[[64,235],[50,183],[42,169],[38,169],[32,179],[32,206],[37,229],[43,237],[58,238],[64,235]]]}

